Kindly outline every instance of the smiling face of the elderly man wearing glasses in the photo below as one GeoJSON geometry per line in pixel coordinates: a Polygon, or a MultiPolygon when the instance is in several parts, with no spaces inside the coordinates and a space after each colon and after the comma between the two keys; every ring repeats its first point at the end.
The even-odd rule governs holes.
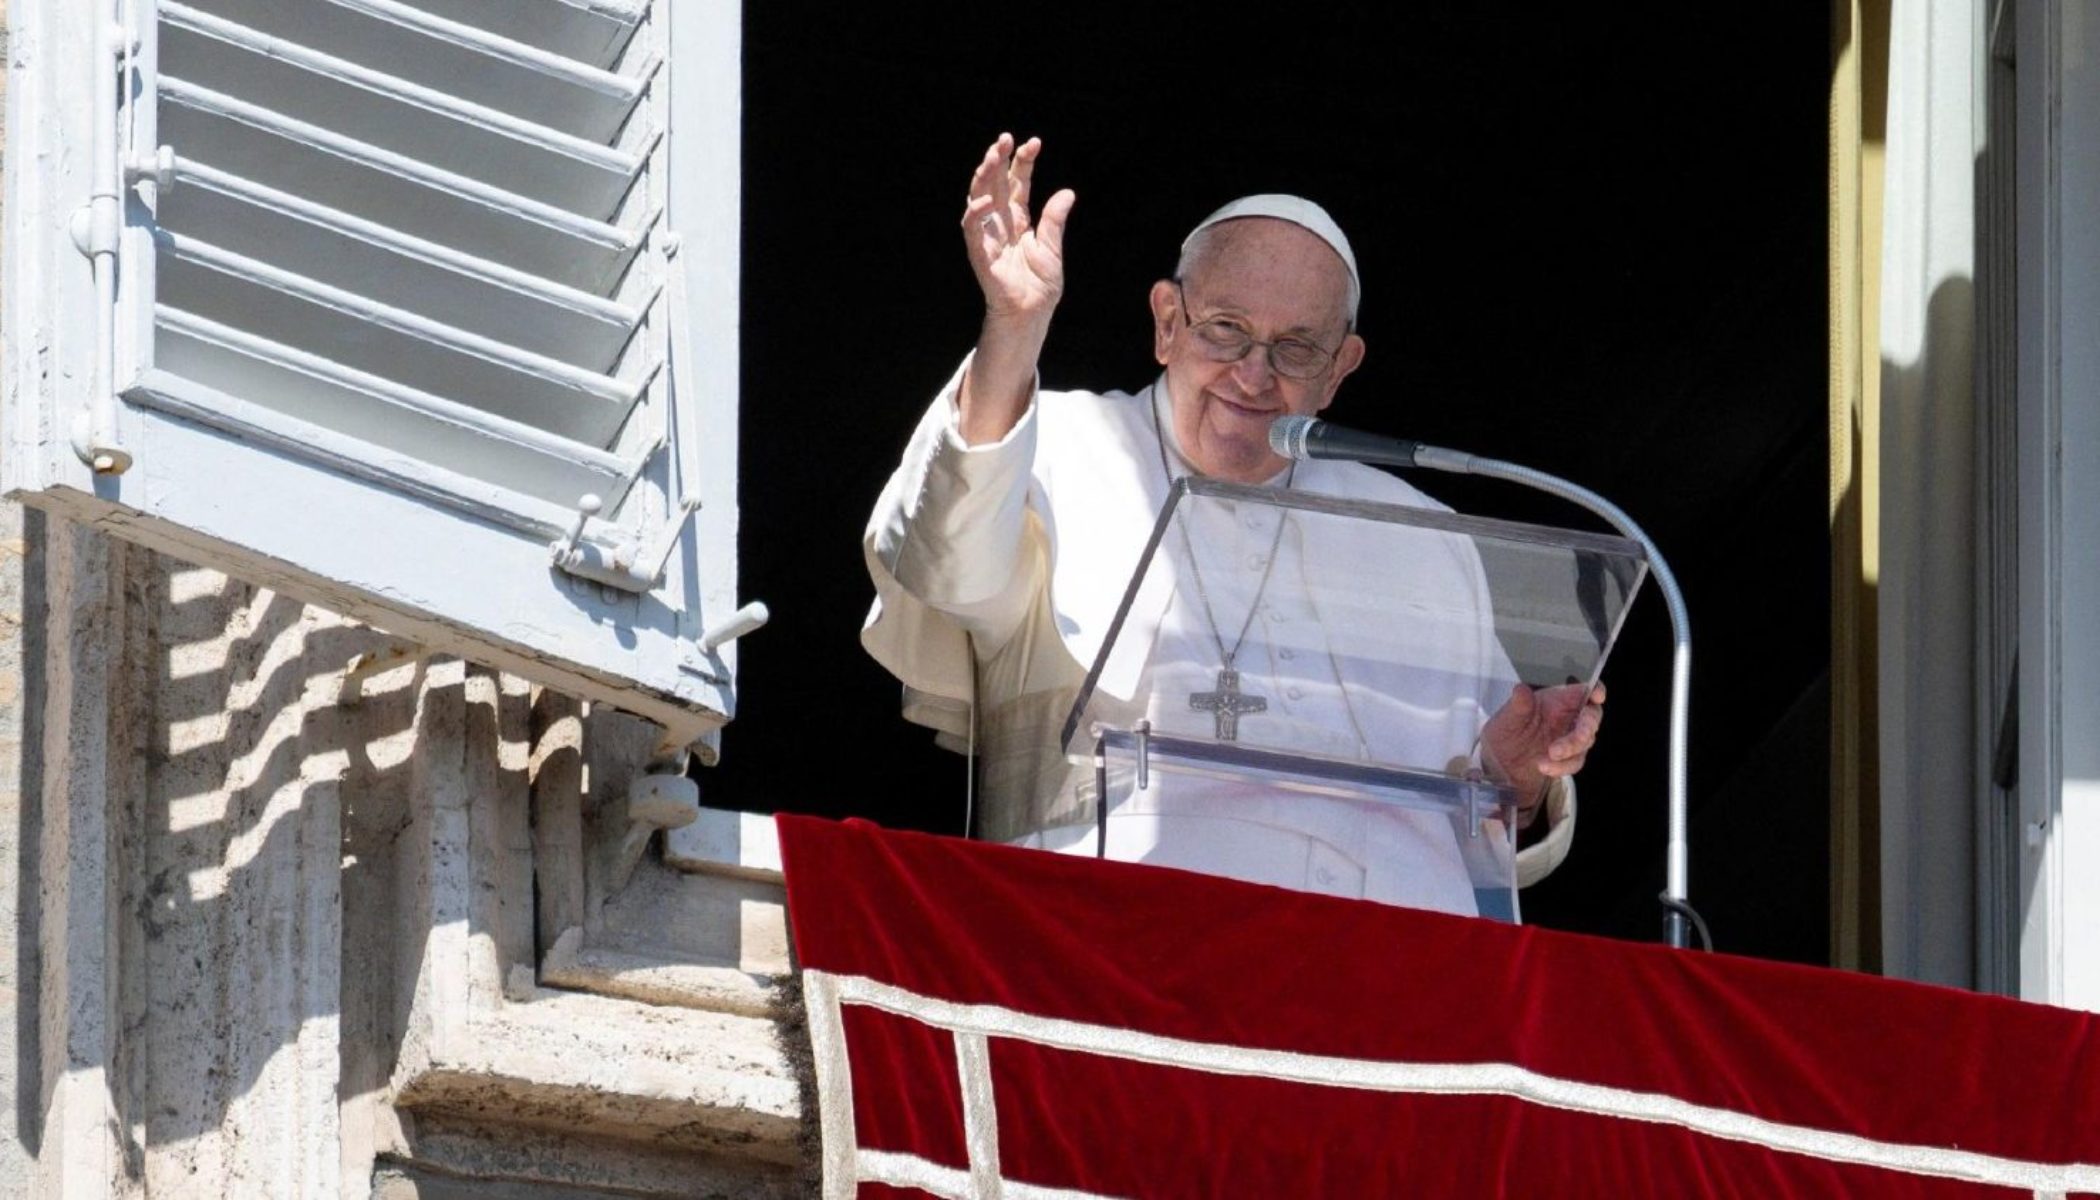
{"type": "Polygon", "coordinates": [[[1317,235],[1289,221],[1245,216],[1214,227],[1212,248],[1178,286],[1153,284],[1153,355],[1166,368],[1174,439],[1197,471],[1260,483],[1287,467],[1268,450],[1268,425],[1315,414],[1363,361],[1348,332],[1348,269],[1317,235]],[[1329,351],[1312,378],[1289,378],[1264,347],[1214,361],[1203,332],[1239,330],[1262,343],[1289,338],[1329,351]]]}

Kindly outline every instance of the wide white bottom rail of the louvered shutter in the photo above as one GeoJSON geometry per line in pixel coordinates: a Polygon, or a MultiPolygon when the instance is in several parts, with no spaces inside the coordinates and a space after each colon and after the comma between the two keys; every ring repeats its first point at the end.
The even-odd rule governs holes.
{"type": "Polygon", "coordinates": [[[76,490],[46,492],[40,502],[424,647],[603,700],[680,736],[697,738],[731,708],[718,658],[687,658],[693,637],[685,620],[701,607],[693,605],[699,563],[691,549],[672,561],[674,588],[607,597],[594,584],[554,574],[546,544],[536,538],[468,530],[485,534],[472,542],[468,563],[462,542],[430,536],[433,504],[395,483],[315,471],[149,410],[132,412],[130,431],[141,448],[139,467],[105,481],[118,504],[76,490]],[[189,485],[191,475],[176,473],[183,469],[166,467],[185,462],[197,477],[237,488],[212,494],[189,485]],[[284,498],[294,494],[300,500],[288,504],[284,498]],[[126,502],[134,496],[151,500],[151,517],[126,502]],[[317,544],[328,549],[326,578],[296,565],[311,561],[317,544]],[[523,578],[544,586],[494,582],[523,578]],[[693,668],[680,666],[682,660],[693,668]]]}

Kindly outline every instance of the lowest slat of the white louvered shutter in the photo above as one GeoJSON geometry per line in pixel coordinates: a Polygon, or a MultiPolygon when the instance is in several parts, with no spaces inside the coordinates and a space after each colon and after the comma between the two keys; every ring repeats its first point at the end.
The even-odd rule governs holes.
{"type": "Polygon", "coordinates": [[[542,429],[401,387],[340,361],[170,307],[155,311],[158,366],[225,395],[267,395],[294,420],[334,429],[397,456],[500,481],[550,504],[592,492],[617,502],[634,464],[542,429]]]}

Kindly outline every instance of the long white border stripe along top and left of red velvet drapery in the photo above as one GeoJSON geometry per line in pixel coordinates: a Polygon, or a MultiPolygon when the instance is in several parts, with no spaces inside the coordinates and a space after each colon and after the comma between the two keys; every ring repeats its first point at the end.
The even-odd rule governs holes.
{"type": "MultiPolygon", "coordinates": [[[[1111,1026],[1037,1017],[1031,1013],[1002,1009],[998,1005],[958,1005],[953,1000],[920,996],[916,992],[859,975],[804,971],[804,979],[815,979],[819,975],[823,977],[821,994],[827,1002],[867,1005],[872,1009],[911,1017],[947,1032],[968,1032],[985,1038],[1014,1038],[1060,1051],[1186,1068],[1210,1074],[1273,1078],[1310,1087],[1348,1087],[1361,1091],[1422,1095],[1506,1095],[1567,1112],[1672,1124],[1707,1137],[1762,1145],[1766,1150],[1787,1154],[1806,1154],[1829,1162],[1850,1162],[1884,1171],[1903,1171],[1909,1175],[1966,1179],[1974,1183],[2024,1187],[2035,1192],[2100,1192],[2100,1164],[2026,1162],[1995,1154],[1976,1154],[1970,1150],[1873,1141],[1852,1133],[1783,1124],[1762,1116],[1690,1103],[1672,1095],[1562,1080],[1518,1068],[1514,1063],[1394,1063],[1193,1042],[1136,1030],[1117,1030],[1111,1026]]],[[[804,984],[804,994],[815,998],[819,988],[808,988],[804,984]]],[[[817,1017],[813,1011],[811,1028],[815,1030],[815,1026],[817,1017]]],[[[819,1055],[819,1063],[821,1061],[823,1057],[819,1055]]],[[[819,1089],[823,1089],[821,1076],[819,1089]]],[[[830,1097],[823,1099],[823,1110],[830,1116],[830,1097]]],[[[832,1131],[825,1131],[827,1147],[830,1137],[832,1131]]],[[[830,1162],[827,1150],[827,1189],[832,1187],[830,1162]]],[[[1006,1183],[1006,1196],[1021,1196],[1016,1187],[1018,1185],[1014,1183],[1006,1183]]],[[[951,1192],[941,1194],[949,1196],[951,1192]]],[[[832,1196],[832,1192],[825,1192],[825,1196],[832,1196]]]]}

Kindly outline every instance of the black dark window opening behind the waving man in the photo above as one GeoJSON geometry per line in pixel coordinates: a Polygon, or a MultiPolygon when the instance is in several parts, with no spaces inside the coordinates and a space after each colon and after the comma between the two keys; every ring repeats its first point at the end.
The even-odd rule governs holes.
{"type": "MultiPolygon", "coordinates": [[[[1000,130],[1073,187],[1046,387],[1151,380],[1144,292],[1224,200],[1348,229],[1336,420],[1615,498],[1690,603],[1693,899],[1724,950],[1827,956],[1829,523],[1821,6],[746,6],[739,712],[710,805],[953,832],[962,759],[859,649],[859,536],[976,330],[958,219],[1000,130]],[[1791,13],[1789,13],[1791,8],[1791,13]],[[1239,13],[1247,13],[1241,8],[1239,13]]],[[[1499,483],[1476,513],[1600,527],[1499,483]]],[[[1527,918],[1653,939],[1670,628],[1606,668],[1571,860],[1527,918]]]]}

